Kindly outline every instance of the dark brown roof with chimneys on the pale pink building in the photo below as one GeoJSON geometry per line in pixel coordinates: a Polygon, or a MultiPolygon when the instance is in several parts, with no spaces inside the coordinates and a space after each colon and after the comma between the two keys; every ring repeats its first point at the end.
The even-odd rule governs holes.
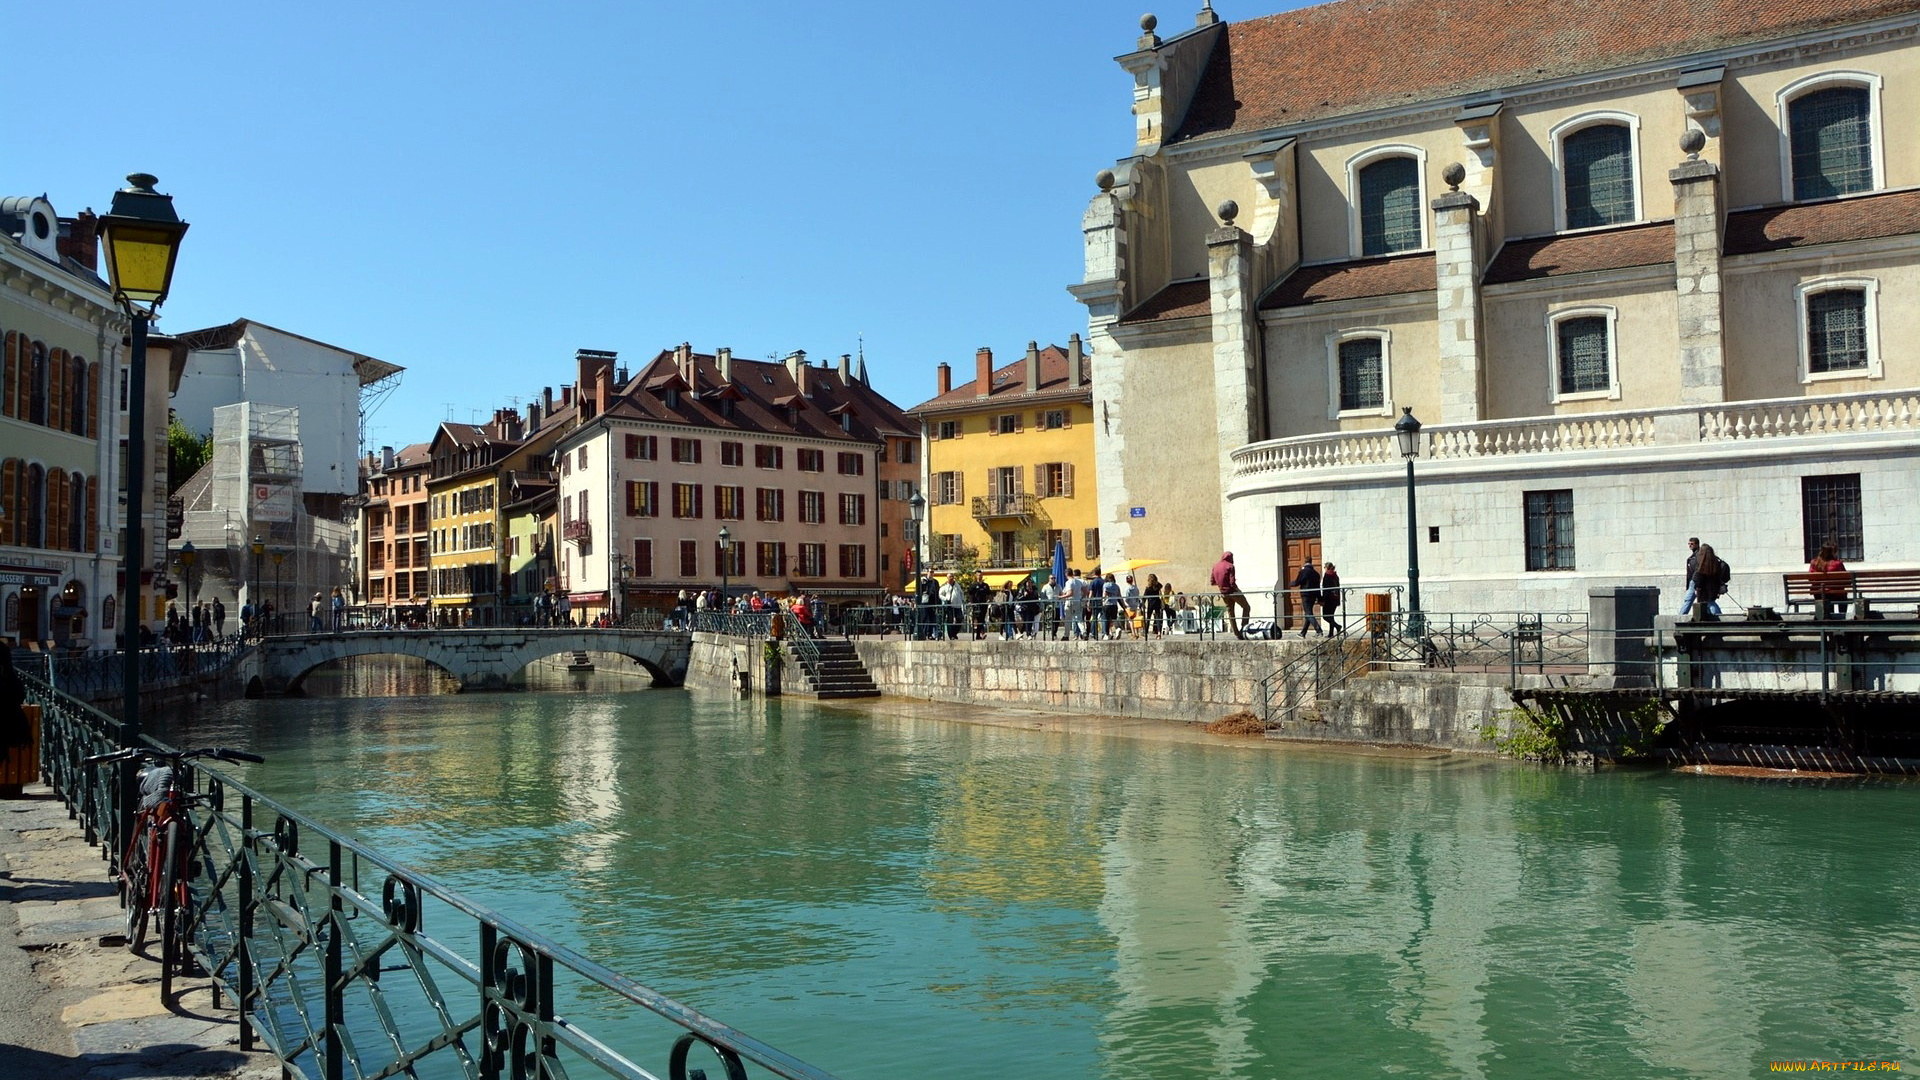
{"type": "Polygon", "coordinates": [[[806,407],[787,409],[778,402],[799,394],[793,375],[785,363],[739,359],[733,363],[732,394],[714,394],[728,386],[720,379],[720,361],[712,356],[695,354],[693,363],[699,373],[697,394],[676,394],[670,407],[668,386],[678,386],[666,375],[676,373],[674,350],[664,350],[653,357],[622,390],[609,417],[687,425],[718,430],[764,432],[764,434],[804,434],[812,438],[833,438],[845,442],[872,442],[881,436],[910,436],[920,432],[920,425],[906,419],[899,405],[877,390],[852,379],[841,382],[835,367],[806,367],[808,398],[806,407]],[[732,400],[732,415],[722,402],[732,400]],[[837,405],[852,405],[852,430],[841,429],[837,415],[829,415],[837,405]]]}

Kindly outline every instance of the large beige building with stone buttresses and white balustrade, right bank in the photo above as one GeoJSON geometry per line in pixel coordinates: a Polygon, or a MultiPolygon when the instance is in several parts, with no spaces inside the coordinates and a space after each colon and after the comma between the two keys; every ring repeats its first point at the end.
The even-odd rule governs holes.
{"type": "Polygon", "coordinates": [[[1073,286],[1110,557],[1405,580],[1402,409],[1432,609],[1920,555],[1920,2],[1142,25],[1073,286]]]}

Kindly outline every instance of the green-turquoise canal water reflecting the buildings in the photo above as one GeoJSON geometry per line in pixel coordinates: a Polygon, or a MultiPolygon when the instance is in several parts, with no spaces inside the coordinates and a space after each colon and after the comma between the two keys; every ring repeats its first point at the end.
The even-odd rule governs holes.
{"type": "Polygon", "coordinates": [[[363,661],[165,732],[847,1080],[1920,1067],[1920,786],[363,661]]]}

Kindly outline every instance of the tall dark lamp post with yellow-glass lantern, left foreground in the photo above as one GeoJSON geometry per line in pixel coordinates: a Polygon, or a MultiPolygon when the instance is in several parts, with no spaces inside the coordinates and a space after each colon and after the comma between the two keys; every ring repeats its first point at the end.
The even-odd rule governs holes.
{"type": "MultiPolygon", "coordinates": [[[[186,223],[173,211],[173,196],[154,190],[148,173],[131,173],[127,186],[113,192],[113,208],[100,219],[100,246],[108,256],[113,302],[127,311],[132,327],[127,348],[127,538],[121,546],[121,650],[125,680],[121,705],[121,746],[140,746],[140,488],[152,484],[146,469],[146,329],[167,300],[173,263],[180,254],[186,223]]],[[[121,767],[121,844],[132,834],[134,769],[121,767]]]]}

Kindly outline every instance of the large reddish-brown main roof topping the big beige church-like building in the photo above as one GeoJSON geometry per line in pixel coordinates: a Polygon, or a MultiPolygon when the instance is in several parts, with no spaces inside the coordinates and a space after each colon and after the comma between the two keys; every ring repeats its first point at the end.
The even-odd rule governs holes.
{"type": "Polygon", "coordinates": [[[1920,0],[1334,0],[1231,23],[1173,142],[1920,12],[1920,0]]]}

